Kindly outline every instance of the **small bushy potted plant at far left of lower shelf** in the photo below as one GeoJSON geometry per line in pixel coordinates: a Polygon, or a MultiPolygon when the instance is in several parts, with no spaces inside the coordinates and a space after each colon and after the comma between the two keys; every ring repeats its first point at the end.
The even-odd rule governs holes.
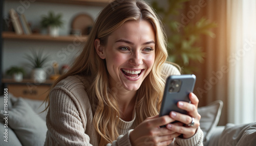
{"type": "Polygon", "coordinates": [[[6,74],[13,77],[16,82],[22,82],[25,70],[22,67],[12,66],[6,71],[6,74]]]}

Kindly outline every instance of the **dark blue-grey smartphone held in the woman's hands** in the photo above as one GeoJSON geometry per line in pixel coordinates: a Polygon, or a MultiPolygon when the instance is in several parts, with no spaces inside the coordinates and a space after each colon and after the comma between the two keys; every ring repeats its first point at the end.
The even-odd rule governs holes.
{"type": "Polygon", "coordinates": [[[169,115],[170,111],[186,114],[187,111],[178,108],[177,103],[179,101],[190,103],[188,95],[193,92],[195,83],[195,75],[169,76],[165,83],[159,116],[169,115]]]}

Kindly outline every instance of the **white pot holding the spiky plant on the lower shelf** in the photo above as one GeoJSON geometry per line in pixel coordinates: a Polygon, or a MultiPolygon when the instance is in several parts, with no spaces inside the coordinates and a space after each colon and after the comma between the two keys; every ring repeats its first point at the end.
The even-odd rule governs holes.
{"type": "Polygon", "coordinates": [[[31,78],[36,83],[45,82],[47,78],[46,71],[43,68],[34,68],[31,71],[31,78]]]}

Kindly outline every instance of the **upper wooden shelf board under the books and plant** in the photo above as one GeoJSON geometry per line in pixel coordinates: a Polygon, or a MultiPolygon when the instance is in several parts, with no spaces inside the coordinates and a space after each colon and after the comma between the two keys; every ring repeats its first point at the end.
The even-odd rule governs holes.
{"type": "Polygon", "coordinates": [[[60,42],[73,42],[73,41],[82,41],[87,40],[87,36],[58,36],[52,37],[49,35],[41,34],[31,34],[31,35],[17,35],[14,32],[3,32],[3,39],[18,39],[18,40],[43,40],[43,41],[60,41],[60,42]]]}

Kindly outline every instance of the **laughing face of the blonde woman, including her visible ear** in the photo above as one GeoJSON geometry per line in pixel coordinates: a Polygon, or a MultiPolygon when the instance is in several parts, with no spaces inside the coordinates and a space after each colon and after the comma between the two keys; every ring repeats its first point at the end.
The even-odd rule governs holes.
{"type": "Polygon", "coordinates": [[[155,61],[155,33],[145,20],[127,21],[108,37],[102,59],[110,75],[111,87],[138,90],[155,61]]]}

